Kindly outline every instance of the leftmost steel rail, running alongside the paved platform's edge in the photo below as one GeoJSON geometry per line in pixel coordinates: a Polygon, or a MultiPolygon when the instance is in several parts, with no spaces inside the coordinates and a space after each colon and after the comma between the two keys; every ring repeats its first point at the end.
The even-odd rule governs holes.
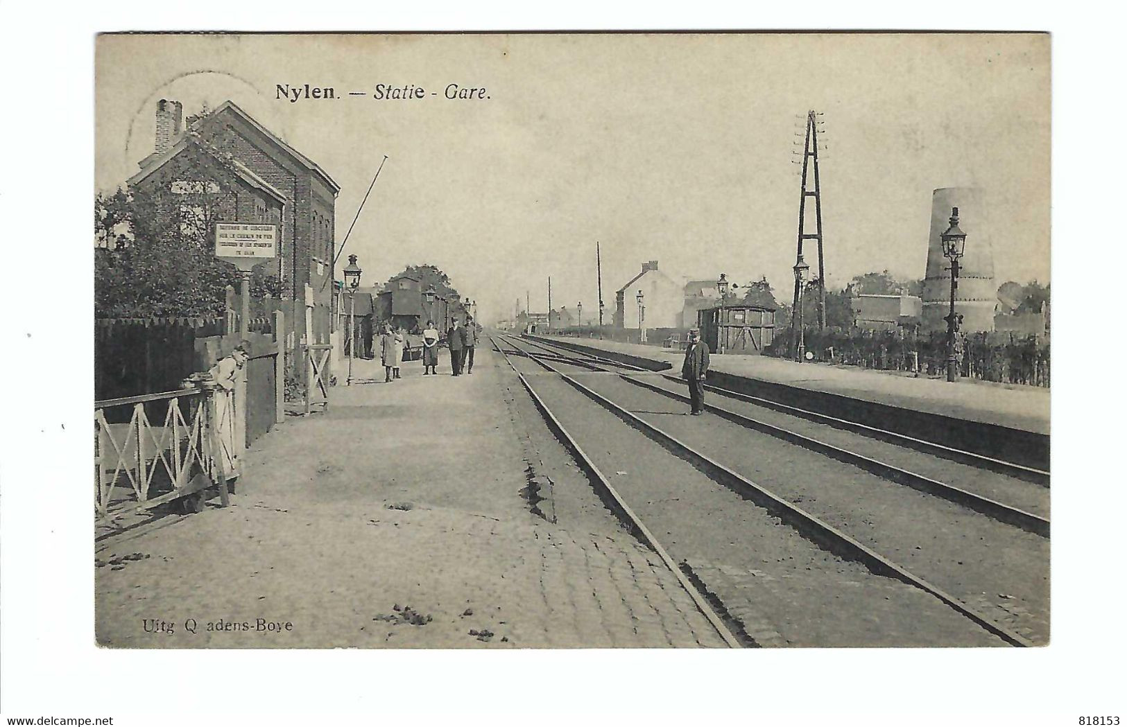
{"type": "Polygon", "coordinates": [[[513,363],[512,359],[509,359],[508,353],[500,348],[497,340],[492,335],[489,335],[489,340],[497,352],[505,357],[505,361],[513,368],[513,371],[516,373],[517,378],[521,380],[521,385],[524,386],[529,396],[532,397],[533,404],[535,404],[536,409],[540,411],[541,416],[544,418],[549,429],[552,430],[564,447],[571,452],[579,466],[587,473],[587,476],[596,485],[596,490],[598,491],[601,499],[607,504],[611,512],[614,513],[615,517],[618,517],[619,520],[621,520],[623,524],[630,529],[635,537],[638,537],[642,540],[642,542],[649,546],[649,548],[657,554],[657,557],[660,558],[662,563],[673,572],[673,575],[677,578],[681,587],[685,590],[689,598],[692,599],[693,603],[696,605],[698,610],[704,616],[712,628],[716,629],[720,638],[724,639],[724,643],[731,648],[743,647],[740,640],[736,638],[731,630],[728,629],[727,625],[725,625],[724,620],[712,609],[708,598],[701,593],[695,585],[693,585],[684,573],[682,573],[681,568],[669,556],[665,547],[657,540],[654,533],[650,532],[649,528],[646,527],[638,514],[630,509],[630,505],[628,505],[618,491],[614,490],[611,482],[598,469],[594,460],[587,456],[587,452],[585,452],[582,447],[579,447],[579,443],[575,440],[575,438],[571,437],[567,429],[564,428],[564,424],[560,423],[540,395],[532,388],[532,385],[529,384],[529,379],[526,379],[524,374],[516,368],[516,365],[513,363]]]}

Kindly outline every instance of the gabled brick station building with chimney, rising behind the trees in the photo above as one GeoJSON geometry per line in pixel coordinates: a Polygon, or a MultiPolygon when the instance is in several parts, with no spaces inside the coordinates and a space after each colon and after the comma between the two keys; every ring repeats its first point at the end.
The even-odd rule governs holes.
{"type": "MultiPolygon", "coordinates": [[[[128,186],[157,188],[159,198],[175,204],[177,186],[183,190],[185,185],[176,179],[175,160],[192,145],[222,162],[215,173],[224,174],[224,188],[231,190],[220,205],[222,221],[279,225],[278,257],[266,271],[282,281],[286,299],[302,300],[310,284],[317,306],[325,308],[317,317],[327,320],[339,185],[232,101],[185,123],[180,102],[161,99],[154,151],[141,160],[128,186]]],[[[304,321],[295,324],[301,330],[304,321]]]]}

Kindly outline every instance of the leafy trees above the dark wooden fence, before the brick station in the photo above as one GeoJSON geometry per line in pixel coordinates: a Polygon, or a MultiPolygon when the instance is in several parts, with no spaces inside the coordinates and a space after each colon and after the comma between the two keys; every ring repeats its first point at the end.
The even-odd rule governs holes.
{"type": "MultiPolygon", "coordinates": [[[[187,144],[141,188],[95,198],[95,316],[221,315],[234,266],[214,255],[215,223],[234,219],[229,154],[189,133],[187,144]]],[[[251,296],[276,296],[261,268],[251,296]]]]}

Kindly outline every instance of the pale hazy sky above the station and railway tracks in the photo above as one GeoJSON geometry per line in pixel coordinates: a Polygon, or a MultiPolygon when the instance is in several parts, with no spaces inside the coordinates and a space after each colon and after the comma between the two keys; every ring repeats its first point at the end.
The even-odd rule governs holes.
{"type": "MultiPolygon", "coordinates": [[[[922,278],[931,192],[985,190],[967,245],[995,276],[1049,281],[1045,35],[101,36],[96,188],[152,151],[161,98],[232,100],[340,185],[337,246],[364,284],[442,268],[479,317],[597,308],[640,264],[789,297],[800,180],[792,142],[823,113],[827,282],[922,278]],[[277,84],[332,100],[277,98],[277,84]],[[376,84],[423,99],[375,99],[376,84]],[[450,83],[488,98],[449,100],[450,83]],[[349,91],[364,92],[349,96],[349,91]],[[432,92],[437,96],[431,96],[432,92]]],[[[806,259],[816,267],[813,251],[806,259]]]]}

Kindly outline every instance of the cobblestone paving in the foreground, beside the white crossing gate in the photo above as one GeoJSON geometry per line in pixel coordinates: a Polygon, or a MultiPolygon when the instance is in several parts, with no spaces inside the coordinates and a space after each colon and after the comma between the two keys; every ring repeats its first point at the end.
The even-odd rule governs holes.
{"type": "Polygon", "coordinates": [[[673,574],[628,539],[446,509],[285,511],[237,499],[236,506],[211,509],[103,556],[99,643],[724,645],[673,574]],[[134,553],[142,557],[116,571],[108,565],[134,553]],[[425,622],[407,620],[408,608],[425,622]],[[147,619],[170,622],[174,632],[147,619]],[[196,634],[186,630],[187,619],[196,620],[196,634]],[[292,627],[264,630],[258,619],[292,627]],[[239,630],[208,630],[220,620],[239,630]]]}

